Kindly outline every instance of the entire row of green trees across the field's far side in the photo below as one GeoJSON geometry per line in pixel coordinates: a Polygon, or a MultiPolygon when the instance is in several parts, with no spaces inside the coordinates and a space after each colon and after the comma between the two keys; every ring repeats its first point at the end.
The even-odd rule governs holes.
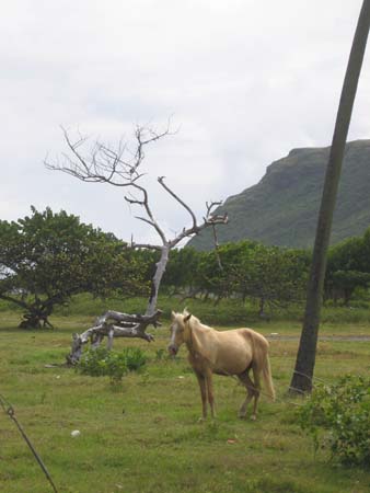
{"type": "MultiPolygon", "coordinates": [[[[161,290],[167,296],[253,301],[261,316],[304,300],[312,252],[245,240],[201,252],[170,252],[161,290]]],[[[21,326],[50,324],[73,295],[149,296],[160,252],[134,249],[112,233],[47,208],[0,221],[0,299],[24,311],[21,326]]],[[[370,285],[370,228],[329,249],[324,300],[348,305],[370,285]]]]}

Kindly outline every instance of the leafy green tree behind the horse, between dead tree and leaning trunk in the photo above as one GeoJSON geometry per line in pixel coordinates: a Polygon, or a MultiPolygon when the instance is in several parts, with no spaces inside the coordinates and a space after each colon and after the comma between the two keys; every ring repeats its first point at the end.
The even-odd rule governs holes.
{"type": "MultiPolygon", "coordinates": [[[[253,299],[263,316],[266,306],[286,307],[304,297],[310,263],[307,251],[245,240],[222,244],[217,253],[199,252],[199,255],[193,271],[194,284],[217,300],[231,296],[243,301],[253,299]]],[[[186,265],[180,268],[186,270],[186,265]]]]}

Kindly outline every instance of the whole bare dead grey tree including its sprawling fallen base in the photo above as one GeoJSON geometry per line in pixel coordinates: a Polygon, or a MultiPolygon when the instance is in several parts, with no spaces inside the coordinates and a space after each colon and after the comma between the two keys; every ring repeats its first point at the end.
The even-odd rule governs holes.
{"type": "Polygon", "coordinates": [[[144,150],[161,138],[170,135],[169,126],[162,131],[157,133],[151,128],[137,126],[135,129],[135,144],[130,147],[127,142],[119,141],[116,149],[106,146],[100,141],[95,141],[83,153],[89,141],[88,138],[79,135],[72,140],[69,133],[62,128],[63,137],[67,145],[67,152],[61,154],[55,163],[45,161],[47,169],[53,171],[61,171],[83,182],[106,183],[115,187],[127,190],[125,199],[127,203],[138,206],[142,209],[143,215],[136,216],[137,219],[148,223],[155,230],[159,236],[160,244],[136,244],[131,242],[131,246],[136,249],[154,249],[160,251],[160,260],[155,265],[155,272],[151,283],[151,294],[148,300],[146,313],[143,316],[119,313],[108,311],[104,316],[96,319],[95,325],[90,328],[83,334],[74,334],[71,353],[67,356],[69,364],[76,364],[80,359],[82,346],[86,342],[91,342],[93,346],[99,345],[104,336],[108,337],[108,347],[112,347],[113,339],[120,337],[141,337],[147,341],[153,339],[152,335],[146,334],[148,325],[158,326],[160,324],[160,310],[157,310],[158,294],[160,284],[165,272],[169,261],[170,251],[175,248],[182,240],[198,234],[208,227],[215,228],[216,225],[224,225],[228,222],[228,216],[219,216],[215,214],[215,208],[220,203],[207,203],[206,215],[199,223],[192,208],[164,182],[164,176],[158,177],[158,183],[182,208],[184,208],[190,217],[190,226],[184,227],[183,230],[173,238],[167,238],[164,229],[155,219],[150,202],[149,194],[144,186],[140,184],[143,173],[140,171],[140,164],[144,159],[144,150]]]}

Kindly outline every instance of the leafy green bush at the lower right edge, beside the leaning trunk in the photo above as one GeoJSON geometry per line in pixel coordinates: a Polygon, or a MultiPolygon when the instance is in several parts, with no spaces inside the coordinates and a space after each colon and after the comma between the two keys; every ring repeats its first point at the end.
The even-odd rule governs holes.
{"type": "Polygon", "coordinates": [[[346,376],[335,386],[320,386],[300,409],[301,427],[315,451],[329,448],[348,466],[370,467],[370,378],[346,376]]]}

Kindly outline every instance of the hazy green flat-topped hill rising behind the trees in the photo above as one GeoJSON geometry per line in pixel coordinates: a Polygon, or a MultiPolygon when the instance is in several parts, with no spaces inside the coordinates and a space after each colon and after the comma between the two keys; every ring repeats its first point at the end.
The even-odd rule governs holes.
{"type": "MultiPolygon", "coordinates": [[[[293,149],[273,162],[261,182],[229,197],[217,209],[230,222],[218,228],[220,243],[242,239],[265,244],[311,248],[324,183],[329,148],[293,149]]],[[[360,236],[370,226],[370,140],[346,146],[339,193],[334,215],[332,243],[360,236]]],[[[211,231],[189,245],[212,248],[211,231]]]]}

